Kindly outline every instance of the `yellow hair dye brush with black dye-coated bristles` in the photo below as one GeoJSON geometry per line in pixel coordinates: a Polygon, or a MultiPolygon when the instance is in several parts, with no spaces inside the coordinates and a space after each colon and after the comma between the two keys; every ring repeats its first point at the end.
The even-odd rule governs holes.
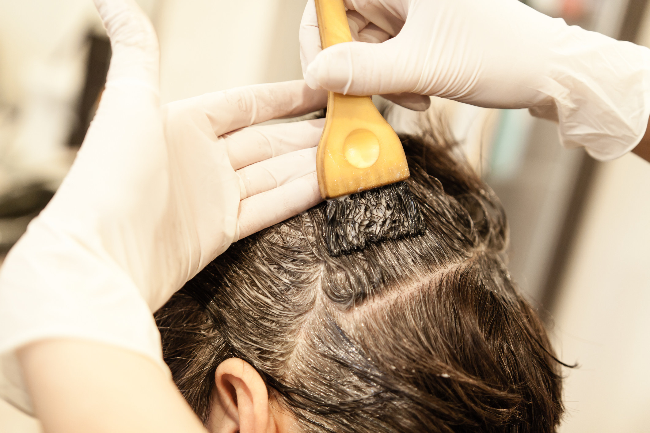
{"type": "MultiPolygon", "coordinates": [[[[323,49],[352,42],[343,0],[316,0],[316,12],[323,49]]],[[[328,93],[316,168],[331,255],[424,232],[402,143],[371,97],[328,93]]]]}

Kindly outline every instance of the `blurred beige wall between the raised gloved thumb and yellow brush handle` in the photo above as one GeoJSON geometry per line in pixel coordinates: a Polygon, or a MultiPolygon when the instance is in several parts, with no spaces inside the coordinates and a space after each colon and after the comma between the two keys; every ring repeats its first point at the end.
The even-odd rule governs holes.
{"type": "Polygon", "coordinates": [[[166,0],[157,13],[161,98],[302,79],[298,27],[306,0],[166,0]]]}

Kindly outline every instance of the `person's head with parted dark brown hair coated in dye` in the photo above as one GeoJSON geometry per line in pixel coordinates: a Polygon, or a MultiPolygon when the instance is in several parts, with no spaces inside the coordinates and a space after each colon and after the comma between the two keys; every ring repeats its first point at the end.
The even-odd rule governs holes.
{"type": "Polygon", "coordinates": [[[319,204],[232,245],[157,313],[211,430],[555,430],[560,365],[508,275],[498,199],[447,140],[403,142],[425,234],[331,257],[319,204]]]}

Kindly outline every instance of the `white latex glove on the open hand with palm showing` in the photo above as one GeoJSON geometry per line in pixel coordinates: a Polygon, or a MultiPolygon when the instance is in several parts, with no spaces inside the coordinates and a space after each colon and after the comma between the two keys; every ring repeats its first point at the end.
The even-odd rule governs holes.
{"type": "Polygon", "coordinates": [[[159,51],[133,0],[96,0],[110,36],[106,90],[45,210],[0,272],[0,394],[29,411],[14,353],[83,338],[162,368],[151,311],[234,241],[321,201],[323,119],[250,127],[326,105],[302,81],[159,106],[159,51]]]}

